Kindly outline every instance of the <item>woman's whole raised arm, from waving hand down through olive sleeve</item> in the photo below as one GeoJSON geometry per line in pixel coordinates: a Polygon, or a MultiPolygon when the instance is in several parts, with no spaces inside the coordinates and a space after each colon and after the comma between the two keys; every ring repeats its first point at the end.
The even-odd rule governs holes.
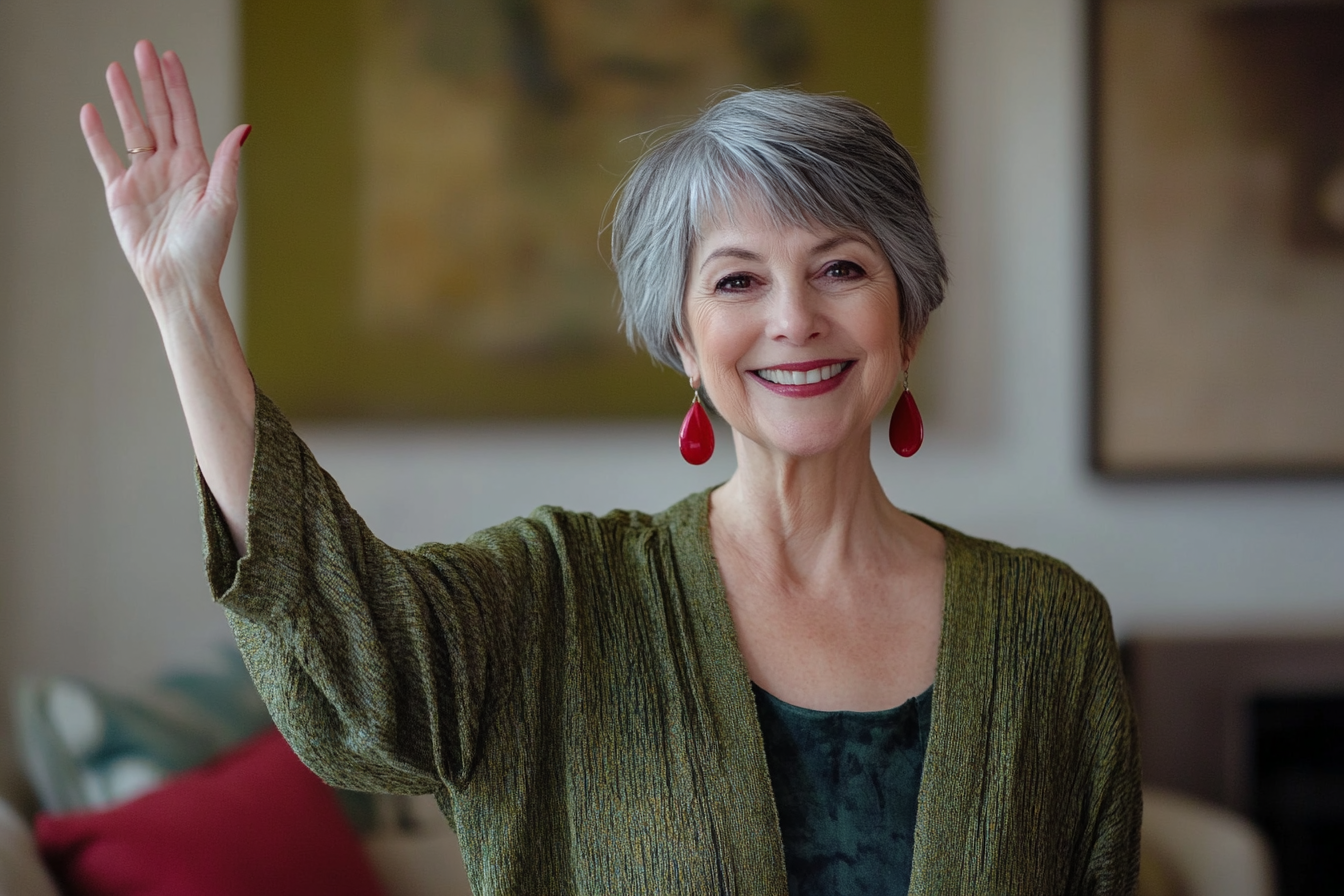
{"type": "Polygon", "coordinates": [[[367,531],[258,399],[219,290],[247,128],[211,164],[177,56],[140,42],[136,67],[144,117],[120,66],[108,85],[126,148],[153,152],[128,167],[91,105],[81,125],[176,379],[215,596],[277,724],[325,778],[399,791],[461,780],[482,713],[544,660],[517,645],[551,618],[538,600],[551,594],[550,541],[520,521],[495,544],[402,552],[367,531]]]}

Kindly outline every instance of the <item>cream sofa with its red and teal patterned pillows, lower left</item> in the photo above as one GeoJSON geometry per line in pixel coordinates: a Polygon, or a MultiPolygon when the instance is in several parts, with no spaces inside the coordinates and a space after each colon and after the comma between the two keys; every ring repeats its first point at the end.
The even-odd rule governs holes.
{"type": "Polygon", "coordinates": [[[237,650],[136,695],[73,677],[11,695],[40,811],[0,798],[0,896],[469,896],[434,799],[328,787],[237,650]]]}

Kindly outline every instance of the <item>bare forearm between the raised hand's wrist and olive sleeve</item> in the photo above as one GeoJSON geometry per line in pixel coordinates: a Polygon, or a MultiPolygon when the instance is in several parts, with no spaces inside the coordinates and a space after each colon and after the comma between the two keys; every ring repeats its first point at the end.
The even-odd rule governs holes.
{"type": "Polygon", "coordinates": [[[251,372],[218,283],[151,297],[191,445],[234,547],[247,551],[247,489],[255,430],[251,372]]]}

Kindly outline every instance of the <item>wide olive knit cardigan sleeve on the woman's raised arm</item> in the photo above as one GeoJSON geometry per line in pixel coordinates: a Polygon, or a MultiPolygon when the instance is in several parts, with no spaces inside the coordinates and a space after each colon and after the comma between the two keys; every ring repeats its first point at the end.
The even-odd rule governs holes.
{"type": "Polygon", "coordinates": [[[199,472],[198,484],[211,591],[276,724],[336,786],[461,785],[482,725],[554,642],[542,637],[562,603],[552,531],[519,519],[394,549],[259,391],[255,419],[242,557],[199,472]]]}

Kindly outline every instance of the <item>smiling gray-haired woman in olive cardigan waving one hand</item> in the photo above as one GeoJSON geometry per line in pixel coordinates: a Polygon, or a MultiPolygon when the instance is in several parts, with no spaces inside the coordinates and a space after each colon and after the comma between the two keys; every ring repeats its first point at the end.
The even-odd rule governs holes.
{"type": "Polygon", "coordinates": [[[1105,602],[874,474],[943,266],[871,110],[739,94],[622,189],[626,326],[731,424],[726,484],[394,551],[255,391],[224,312],[247,129],[211,167],[180,60],[141,42],[136,63],[145,117],[109,69],[129,168],[91,106],[83,130],[185,410],[211,587],[308,764],[434,793],[478,895],[1132,891],[1105,602]]]}

